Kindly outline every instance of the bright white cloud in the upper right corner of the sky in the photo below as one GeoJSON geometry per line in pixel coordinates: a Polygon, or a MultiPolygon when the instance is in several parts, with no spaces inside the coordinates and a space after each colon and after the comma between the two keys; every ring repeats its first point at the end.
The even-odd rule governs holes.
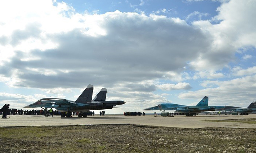
{"type": "Polygon", "coordinates": [[[193,22],[194,26],[200,27],[212,38],[212,42],[205,48],[204,54],[189,62],[190,66],[196,70],[222,69],[228,67],[229,62],[235,61],[235,53],[239,48],[255,47],[255,5],[250,0],[242,4],[239,0],[231,0],[217,8],[219,14],[213,20],[220,23],[212,24],[210,20],[193,22]]]}

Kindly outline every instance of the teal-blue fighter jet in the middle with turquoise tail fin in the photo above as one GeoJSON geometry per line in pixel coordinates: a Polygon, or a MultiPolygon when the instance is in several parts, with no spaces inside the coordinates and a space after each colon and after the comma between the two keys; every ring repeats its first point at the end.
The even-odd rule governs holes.
{"type": "Polygon", "coordinates": [[[149,107],[143,109],[145,111],[149,110],[176,110],[179,113],[185,113],[186,116],[193,116],[194,113],[200,113],[205,111],[214,111],[215,108],[208,106],[209,98],[205,96],[196,106],[186,106],[172,103],[163,103],[154,107],[149,107]]]}

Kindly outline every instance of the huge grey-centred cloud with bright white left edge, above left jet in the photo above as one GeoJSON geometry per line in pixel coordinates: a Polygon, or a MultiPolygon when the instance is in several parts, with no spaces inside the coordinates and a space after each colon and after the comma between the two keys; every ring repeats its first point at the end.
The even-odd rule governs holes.
{"type": "MultiPolygon", "coordinates": [[[[13,55],[10,62],[1,61],[0,72],[2,77],[17,78],[5,81],[10,86],[82,88],[85,80],[113,84],[169,78],[169,73],[180,73],[187,61],[209,44],[200,30],[179,18],[120,11],[79,14],[65,3],[46,4],[35,5],[41,11],[33,18],[27,16],[36,8],[27,8],[27,13],[19,16],[28,19],[16,19],[23,28],[8,28],[5,34],[13,55]],[[51,27],[45,18],[52,21],[51,27]],[[30,42],[37,45],[17,47],[29,47],[26,44],[30,42]]],[[[3,21],[5,28],[11,24],[3,21]]],[[[2,47],[4,54],[9,52],[8,47],[2,47]]]]}

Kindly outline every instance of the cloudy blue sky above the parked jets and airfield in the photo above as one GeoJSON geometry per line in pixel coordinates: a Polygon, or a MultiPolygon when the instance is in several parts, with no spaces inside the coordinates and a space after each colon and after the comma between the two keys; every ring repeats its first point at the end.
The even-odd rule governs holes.
{"type": "Polygon", "coordinates": [[[204,96],[247,107],[255,14],[254,0],[2,0],[0,106],[76,100],[92,84],[93,97],[104,87],[126,102],[106,114],[204,96]]]}

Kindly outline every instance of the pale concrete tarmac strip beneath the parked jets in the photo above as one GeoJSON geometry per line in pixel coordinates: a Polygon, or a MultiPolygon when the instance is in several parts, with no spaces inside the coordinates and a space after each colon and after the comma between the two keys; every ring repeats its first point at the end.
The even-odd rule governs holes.
{"type": "Polygon", "coordinates": [[[204,120],[228,120],[228,119],[247,119],[256,118],[256,114],[250,115],[197,115],[196,117],[174,116],[174,117],[154,117],[146,116],[123,116],[109,115],[87,116],[79,118],[62,118],[60,116],[44,117],[34,115],[10,115],[7,119],[0,119],[0,127],[12,126],[68,126],[68,125],[104,125],[104,124],[136,124],[146,126],[162,126],[174,128],[207,128],[207,127],[225,127],[225,128],[256,128],[256,124],[235,123],[235,122],[211,122],[204,120]]]}

